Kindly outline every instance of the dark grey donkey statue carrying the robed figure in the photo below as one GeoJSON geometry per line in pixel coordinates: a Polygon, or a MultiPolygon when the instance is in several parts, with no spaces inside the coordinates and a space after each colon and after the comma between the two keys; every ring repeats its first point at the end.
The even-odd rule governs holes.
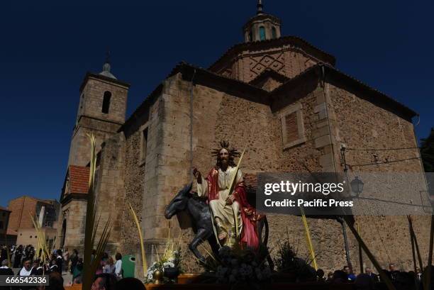
{"type": "MultiPolygon", "coordinates": [[[[205,262],[204,256],[201,255],[197,247],[208,240],[214,255],[218,253],[218,242],[213,232],[213,224],[211,221],[211,211],[204,199],[199,198],[196,192],[191,192],[192,184],[187,184],[181,189],[176,196],[170,201],[166,207],[165,218],[170,219],[180,211],[187,211],[191,217],[191,223],[195,236],[189,243],[189,249],[201,262],[205,262]]],[[[267,246],[268,242],[268,222],[267,217],[262,218],[257,223],[257,234],[260,237],[261,245],[267,246]],[[262,230],[265,227],[265,236],[262,239],[262,230]]],[[[271,267],[274,267],[271,257],[267,257],[267,260],[271,267]]]]}

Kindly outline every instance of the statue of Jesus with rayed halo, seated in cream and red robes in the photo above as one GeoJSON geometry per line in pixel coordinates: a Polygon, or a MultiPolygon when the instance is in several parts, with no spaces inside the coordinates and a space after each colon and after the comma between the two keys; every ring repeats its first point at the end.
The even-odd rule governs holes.
{"type": "Polygon", "coordinates": [[[221,245],[233,246],[235,238],[238,238],[238,241],[248,247],[257,249],[259,240],[256,221],[260,215],[247,202],[243,174],[240,169],[237,171],[234,162],[240,153],[238,150],[229,149],[226,141],[222,141],[220,145],[220,148],[213,150],[213,155],[217,158],[216,166],[211,168],[206,178],[202,177],[199,170],[193,169],[197,194],[208,198],[213,225],[221,245]],[[235,186],[233,192],[229,192],[235,174],[235,186]]]}

